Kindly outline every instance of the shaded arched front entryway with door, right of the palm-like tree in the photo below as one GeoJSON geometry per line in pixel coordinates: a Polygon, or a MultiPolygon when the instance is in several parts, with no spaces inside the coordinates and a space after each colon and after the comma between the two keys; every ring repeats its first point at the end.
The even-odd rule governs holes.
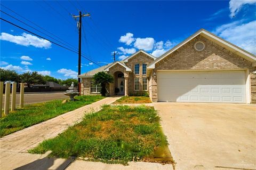
{"type": "Polygon", "coordinates": [[[124,74],[121,71],[116,71],[114,73],[115,78],[115,94],[124,95],[125,92],[125,82],[124,82],[124,74]]]}

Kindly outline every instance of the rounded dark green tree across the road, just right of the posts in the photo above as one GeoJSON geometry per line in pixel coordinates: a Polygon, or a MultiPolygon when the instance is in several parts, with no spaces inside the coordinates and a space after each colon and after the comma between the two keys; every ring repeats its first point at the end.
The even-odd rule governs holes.
{"type": "Polygon", "coordinates": [[[44,76],[38,74],[37,71],[33,72],[25,72],[22,75],[20,75],[20,80],[23,83],[27,83],[27,86],[30,87],[34,84],[45,84],[44,76]]]}

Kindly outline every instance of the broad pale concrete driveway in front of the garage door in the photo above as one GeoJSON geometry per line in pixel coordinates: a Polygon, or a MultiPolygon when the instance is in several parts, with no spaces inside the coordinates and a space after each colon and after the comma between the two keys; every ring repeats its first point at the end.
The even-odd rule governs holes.
{"type": "Polygon", "coordinates": [[[256,169],[256,106],[154,103],[177,169],[256,169]]]}

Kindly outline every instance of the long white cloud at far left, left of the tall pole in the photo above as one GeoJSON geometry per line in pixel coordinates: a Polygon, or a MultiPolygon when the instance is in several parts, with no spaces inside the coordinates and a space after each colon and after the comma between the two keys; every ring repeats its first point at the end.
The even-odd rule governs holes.
{"type": "Polygon", "coordinates": [[[23,46],[34,46],[38,48],[50,48],[51,42],[43,38],[38,38],[31,34],[23,33],[21,36],[15,36],[8,33],[1,33],[0,39],[23,46]]]}

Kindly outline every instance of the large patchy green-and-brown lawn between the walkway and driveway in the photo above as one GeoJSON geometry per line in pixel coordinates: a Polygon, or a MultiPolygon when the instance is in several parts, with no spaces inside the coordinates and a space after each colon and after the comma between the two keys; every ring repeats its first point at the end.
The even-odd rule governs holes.
{"type": "Polygon", "coordinates": [[[105,105],[101,111],[85,115],[81,123],[43,141],[29,152],[51,150],[51,156],[55,157],[76,156],[127,164],[128,161],[146,158],[148,161],[157,149],[167,148],[167,145],[153,107],[105,105]]]}

